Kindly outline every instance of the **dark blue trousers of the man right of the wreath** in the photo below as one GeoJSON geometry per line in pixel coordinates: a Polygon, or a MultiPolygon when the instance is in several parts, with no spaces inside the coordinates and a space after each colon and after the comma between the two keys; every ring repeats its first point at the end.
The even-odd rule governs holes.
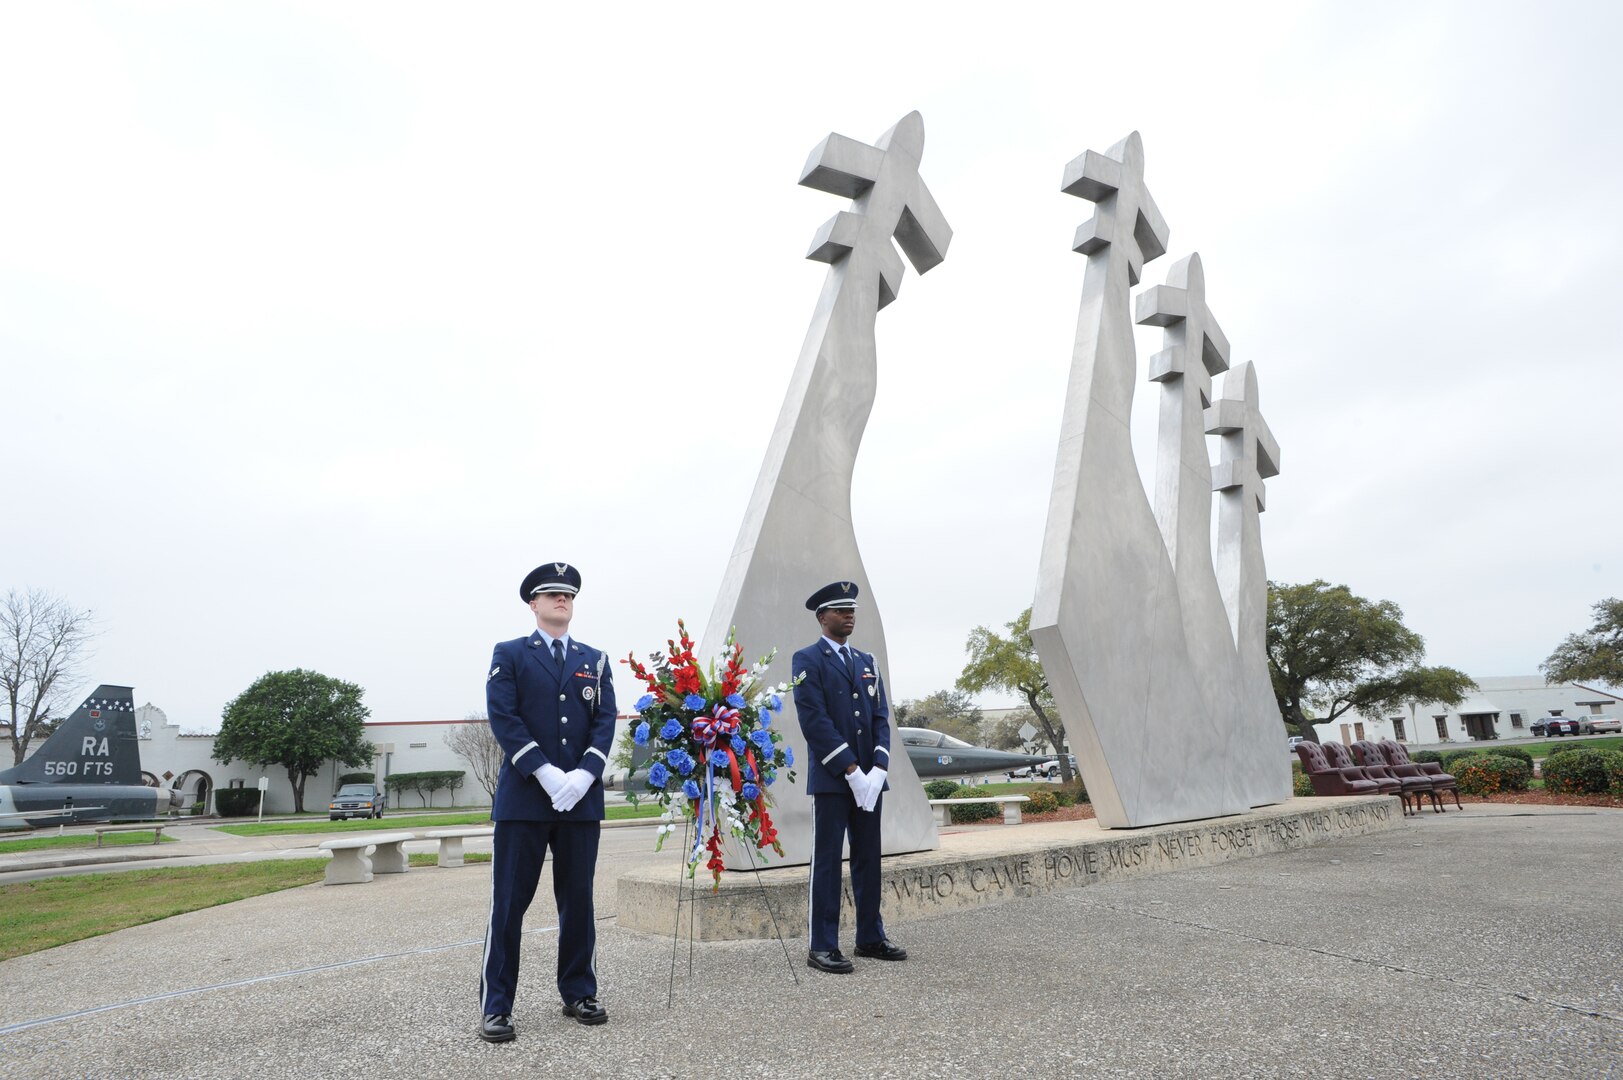
{"type": "Polygon", "coordinates": [[[857,944],[885,940],[880,921],[880,812],[885,796],[872,812],[859,810],[849,791],[812,796],[812,952],[839,948],[841,875],[839,853],[850,836],[850,893],[857,906],[857,944]]]}

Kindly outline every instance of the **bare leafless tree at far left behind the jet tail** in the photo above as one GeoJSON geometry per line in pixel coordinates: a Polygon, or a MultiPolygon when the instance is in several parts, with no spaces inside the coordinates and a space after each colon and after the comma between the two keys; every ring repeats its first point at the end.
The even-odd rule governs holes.
{"type": "Polygon", "coordinates": [[[0,601],[0,689],[11,724],[13,765],[71,711],[65,695],[78,680],[81,653],[94,635],[89,611],[44,590],[11,590],[0,601]]]}

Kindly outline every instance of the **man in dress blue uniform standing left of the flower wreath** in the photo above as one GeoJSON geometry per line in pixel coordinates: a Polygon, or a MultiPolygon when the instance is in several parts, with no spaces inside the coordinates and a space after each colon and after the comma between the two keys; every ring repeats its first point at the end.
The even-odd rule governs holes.
{"type": "Polygon", "coordinates": [[[597,1002],[592,963],[592,877],[613,739],[613,679],[604,653],[570,638],[579,590],[581,573],[566,562],[531,570],[519,598],[536,616],[536,632],[497,645],[485,676],[490,731],[503,754],[490,807],[495,856],[479,986],[479,1038],[487,1043],[513,1038],[519,935],[547,848],[558,903],[563,1015],[581,1023],[609,1020],[597,1002]]]}

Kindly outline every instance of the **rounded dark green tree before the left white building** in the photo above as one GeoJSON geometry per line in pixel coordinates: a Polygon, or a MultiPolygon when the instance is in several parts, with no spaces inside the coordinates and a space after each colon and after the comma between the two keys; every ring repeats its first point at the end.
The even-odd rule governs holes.
{"type": "Polygon", "coordinates": [[[321,765],[372,763],[375,750],[365,739],[372,710],[360,703],[362,693],[354,682],[316,671],[269,671],[226,703],[214,760],[230,765],[240,757],[255,768],[286,768],[294,812],[304,814],[305,780],[321,765]]]}

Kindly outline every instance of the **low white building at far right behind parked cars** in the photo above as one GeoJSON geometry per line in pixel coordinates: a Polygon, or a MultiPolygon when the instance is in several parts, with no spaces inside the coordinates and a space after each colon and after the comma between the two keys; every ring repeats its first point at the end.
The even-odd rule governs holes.
{"type": "Polygon", "coordinates": [[[1396,739],[1397,742],[1474,742],[1522,739],[1532,721],[1543,716],[1623,716],[1623,698],[1578,682],[1552,682],[1539,676],[1477,679],[1477,689],[1459,706],[1440,702],[1410,703],[1383,716],[1352,711],[1328,724],[1315,724],[1319,742],[1396,739]]]}

